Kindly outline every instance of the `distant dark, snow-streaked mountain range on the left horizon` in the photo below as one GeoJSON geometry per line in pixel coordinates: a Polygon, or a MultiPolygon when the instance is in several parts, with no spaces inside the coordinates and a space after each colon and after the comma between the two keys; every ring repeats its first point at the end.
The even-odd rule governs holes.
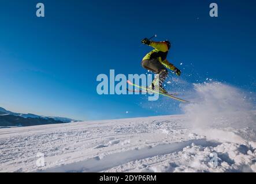
{"type": "Polygon", "coordinates": [[[0,127],[27,127],[45,124],[79,122],[65,117],[38,116],[36,114],[14,113],[0,107],[0,127]]]}

